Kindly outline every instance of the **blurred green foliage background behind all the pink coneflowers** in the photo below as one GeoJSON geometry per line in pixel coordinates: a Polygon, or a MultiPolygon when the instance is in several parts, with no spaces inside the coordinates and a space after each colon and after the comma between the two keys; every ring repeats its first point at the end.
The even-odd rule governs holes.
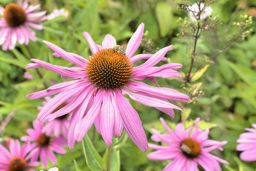
{"type": "MultiPolygon", "coordinates": [[[[1,0],[1,6],[12,1],[1,0]]],[[[47,61],[60,66],[71,66],[64,59],[52,57],[52,50],[42,40],[51,41],[59,47],[88,57],[91,55],[88,43],[83,37],[83,31],[88,31],[100,44],[105,34],[115,36],[118,44],[125,45],[136,27],[145,23],[145,31],[148,38],[156,45],[150,49],[154,52],[157,48],[173,44],[175,50],[168,52],[169,62],[182,63],[180,72],[187,73],[189,67],[189,49],[183,43],[186,38],[177,38],[179,17],[186,17],[187,13],[177,10],[177,5],[172,0],[42,0],[32,3],[42,3],[42,8],[48,13],[54,8],[66,8],[70,13],[68,18],[58,17],[44,22],[44,30],[36,31],[38,41],[29,42],[29,48],[34,58],[47,61]],[[154,49],[154,50],[153,50],[154,49]]],[[[211,6],[213,16],[219,16],[223,22],[215,31],[204,34],[198,43],[199,50],[206,55],[212,54],[225,45],[225,35],[232,34],[232,22],[241,14],[252,13],[256,10],[256,1],[250,0],[222,0],[211,6]]],[[[255,13],[254,13],[255,15],[255,13]]],[[[255,27],[255,17],[252,27],[255,27]]],[[[204,96],[198,101],[184,105],[177,103],[182,108],[191,108],[189,119],[200,117],[202,120],[213,124],[205,124],[211,127],[210,137],[214,140],[228,140],[223,152],[216,151],[216,155],[227,160],[230,165],[223,166],[223,170],[255,170],[255,162],[244,162],[239,159],[236,151],[236,140],[244,128],[250,128],[256,123],[256,34],[246,38],[243,42],[237,42],[228,50],[221,53],[213,61],[202,60],[198,63],[210,64],[204,75],[198,80],[202,82],[201,90],[204,96]],[[201,62],[201,63],[200,63],[201,62]]],[[[140,48],[141,53],[145,48],[140,48]]],[[[44,99],[28,100],[26,94],[44,89],[44,82],[48,86],[51,81],[62,82],[60,75],[51,71],[40,69],[44,79],[36,75],[35,70],[28,70],[34,80],[23,78],[26,64],[29,63],[29,55],[26,48],[19,45],[15,50],[3,52],[0,50],[0,121],[12,110],[17,109],[17,114],[1,134],[1,140],[6,138],[20,138],[26,135],[26,129],[31,127],[31,121],[36,119],[38,110],[36,107],[42,104],[44,99]]],[[[195,70],[193,70],[195,72],[195,70]]],[[[182,82],[157,78],[162,87],[172,87],[182,91],[182,82]]],[[[138,110],[143,126],[150,141],[150,128],[161,127],[159,117],[177,123],[180,112],[175,111],[175,119],[155,110],[131,101],[132,106],[138,110]]],[[[184,114],[183,114],[184,115],[184,114]]],[[[163,128],[159,128],[163,129],[163,128]]],[[[91,129],[88,137],[95,145],[100,156],[104,156],[106,144],[91,129]]],[[[66,148],[68,149],[68,148],[66,148]]],[[[86,150],[86,149],[85,149],[86,150]]],[[[147,154],[141,152],[131,140],[127,140],[120,149],[120,155],[116,154],[116,161],[120,159],[120,170],[161,170],[169,161],[150,161],[147,154]]],[[[102,159],[104,160],[104,158],[102,159]]],[[[104,162],[104,161],[103,161],[104,162]]],[[[53,167],[50,165],[49,167],[53,167]]],[[[89,170],[84,160],[83,145],[76,144],[75,149],[68,150],[67,154],[58,155],[56,167],[60,170],[89,170]],[[75,161],[75,163],[74,163],[75,161]]],[[[42,166],[38,167],[38,169],[42,166]]],[[[116,168],[115,170],[118,170],[116,168]]]]}

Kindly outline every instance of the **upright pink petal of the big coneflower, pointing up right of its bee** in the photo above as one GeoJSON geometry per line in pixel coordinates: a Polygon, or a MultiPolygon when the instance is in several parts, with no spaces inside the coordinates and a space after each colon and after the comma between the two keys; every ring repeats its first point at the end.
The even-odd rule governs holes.
{"type": "Polygon", "coordinates": [[[128,41],[126,48],[126,56],[131,58],[132,55],[136,52],[138,47],[140,47],[141,38],[143,36],[144,23],[141,23],[140,26],[136,29],[130,40],[128,41]]]}

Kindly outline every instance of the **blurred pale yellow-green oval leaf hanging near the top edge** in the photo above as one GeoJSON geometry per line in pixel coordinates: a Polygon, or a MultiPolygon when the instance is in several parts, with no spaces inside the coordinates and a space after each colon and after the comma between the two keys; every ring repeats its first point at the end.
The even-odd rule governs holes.
{"type": "Polygon", "coordinates": [[[156,5],[156,17],[160,27],[160,35],[166,36],[172,25],[172,8],[170,4],[159,2],[156,5]]]}

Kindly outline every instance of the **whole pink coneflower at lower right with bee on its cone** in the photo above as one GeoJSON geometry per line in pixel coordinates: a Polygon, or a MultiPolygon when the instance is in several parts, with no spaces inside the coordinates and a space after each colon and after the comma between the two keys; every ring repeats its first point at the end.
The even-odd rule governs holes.
{"type": "MultiPolygon", "coordinates": [[[[209,130],[200,131],[198,126],[190,126],[188,130],[184,129],[182,123],[177,124],[175,131],[168,128],[163,118],[160,118],[168,134],[160,134],[153,129],[152,140],[164,142],[168,146],[148,144],[157,151],[150,152],[150,160],[172,160],[163,170],[168,171],[191,171],[198,170],[200,165],[205,170],[221,170],[220,163],[228,164],[227,161],[210,154],[214,149],[220,149],[221,145],[227,144],[227,141],[219,142],[216,140],[207,140],[209,130]],[[191,134],[189,132],[192,131],[191,134]]],[[[197,122],[199,124],[199,121],[197,122]]]]}

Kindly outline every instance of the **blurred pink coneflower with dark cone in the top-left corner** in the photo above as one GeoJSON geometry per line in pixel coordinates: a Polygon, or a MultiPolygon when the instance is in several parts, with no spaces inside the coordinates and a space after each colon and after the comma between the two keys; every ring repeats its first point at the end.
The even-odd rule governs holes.
{"type": "Polygon", "coordinates": [[[40,22],[45,20],[46,11],[40,11],[40,4],[28,5],[28,1],[19,6],[19,4],[9,3],[5,8],[0,7],[0,13],[3,16],[0,19],[0,45],[3,50],[12,50],[17,41],[20,45],[28,45],[29,39],[36,41],[35,31],[29,29],[43,29],[40,22]]]}

